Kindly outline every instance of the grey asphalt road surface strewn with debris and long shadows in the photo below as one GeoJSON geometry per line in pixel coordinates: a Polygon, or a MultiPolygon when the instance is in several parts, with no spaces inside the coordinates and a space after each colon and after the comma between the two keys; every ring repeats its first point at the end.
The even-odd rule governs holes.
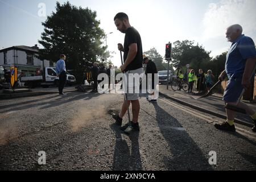
{"type": "Polygon", "coordinates": [[[249,127],[218,131],[213,122],[222,119],[142,97],[141,131],[127,136],[108,113],[122,99],[72,92],[1,100],[0,170],[256,169],[256,135],[249,127]],[[40,151],[46,152],[45,165],[38,163],[40,151]],[[217,164],[209,164],[210,151],[217,164]]]}

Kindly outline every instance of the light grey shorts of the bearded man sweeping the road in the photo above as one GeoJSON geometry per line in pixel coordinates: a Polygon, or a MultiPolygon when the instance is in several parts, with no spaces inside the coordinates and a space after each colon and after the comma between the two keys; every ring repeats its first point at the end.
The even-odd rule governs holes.
{"type": "Polygon", "coordinates": [[[126,80],[126,85],[127,85],[126,93],[127,93],[128,101],[135,101],[135,100],[139,99],[139,77],[138,77],[138,75],[134,75],[135,73],[138,73],[138,75],[143,76],[143,68],[134,69],[134,70],[125,72],[125,76],[126,76],[125,80],[126,80]],[[136,78],[135,78],[135,80],[131,79],[131,76],[136,77],[137,79],[136,78]]]}

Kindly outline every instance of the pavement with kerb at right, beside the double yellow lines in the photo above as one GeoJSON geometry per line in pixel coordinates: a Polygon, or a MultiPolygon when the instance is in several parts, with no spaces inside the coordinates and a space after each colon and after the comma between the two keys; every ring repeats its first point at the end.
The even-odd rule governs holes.
{"type": "MultiPolygon", "coordinates": [[[[159,96],[179,102],[180,104],[192,107],[193,109],[203,111],[204,113],[226,119],[226,111],[224,108],[224,101],[222,101],[222,94],[214,93],[212,94],[212,96],[197,99],[199,96],[195,96],[194,94],[189,94],[181,90],[177,90],[174,92],[171,89],[171,86],[169,86],[167,90],[166,85],[159,85],[159,96]]],[[[242,102],[249,105],[252,109],[256,111],[256,104],[250,103],[249,101],[245,100],[242,100],[242,102]]],[[[237,113],[234,122],[249,127],[254,126],[253,121],[247,114],[237,113]]]]}

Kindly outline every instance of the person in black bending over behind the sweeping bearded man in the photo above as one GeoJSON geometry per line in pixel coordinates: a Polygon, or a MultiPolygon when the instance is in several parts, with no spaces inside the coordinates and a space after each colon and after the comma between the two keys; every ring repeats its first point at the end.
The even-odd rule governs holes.
{"type": "Polygon", "coordinates": [[[147,96],[147,99],[148,101],[150,102],[156,102],[156,95],[155,95],[155,73],[158,73],[158,70],[156,69],[156,65],[155,63],[148,59],[148,57],[144,57],[143,59],[143,64],[146,64],[146,71],[145,71],[145,75],[146,75],[146,78],[148,76],[148,74],[151,74],[152,75],[152,80],[148,80],[147,78],[147,90],[148,89],[151,89],[152,90],[149,90],[149,96],[147,96]]]}

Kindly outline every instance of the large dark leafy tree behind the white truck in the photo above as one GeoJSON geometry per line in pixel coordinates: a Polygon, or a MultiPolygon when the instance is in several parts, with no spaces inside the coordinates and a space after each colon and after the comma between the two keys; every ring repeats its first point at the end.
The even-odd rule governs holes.
{"type": "Polygon", "coordinates": [[[79,82],[82,73],[88,71],[93,61],[104,56],[106,47],[101,47],[105,33],[96,20],[96,11],[72,6],[69,2],[56,3],[56,13],[43,22],[44,32],[39,43],[40,59],[56,61],[61,53],[67,56],[66,67],[73,70],[79,82]]]}

